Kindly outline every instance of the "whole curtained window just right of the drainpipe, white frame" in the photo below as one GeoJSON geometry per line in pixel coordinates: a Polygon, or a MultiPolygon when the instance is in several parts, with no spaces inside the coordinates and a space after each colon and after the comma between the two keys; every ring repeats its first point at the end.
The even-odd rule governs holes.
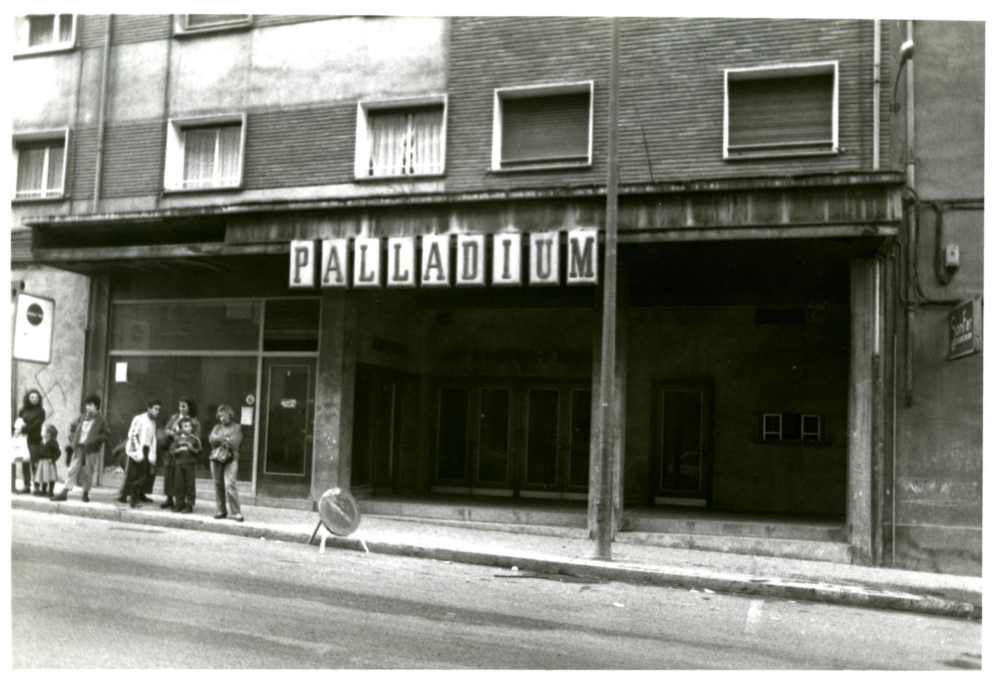
{"type": "Polygon", "coordinates": [[[243,114],[172,119],[168,123],[164,189],[240,187],[245,127],[243,114]]]}

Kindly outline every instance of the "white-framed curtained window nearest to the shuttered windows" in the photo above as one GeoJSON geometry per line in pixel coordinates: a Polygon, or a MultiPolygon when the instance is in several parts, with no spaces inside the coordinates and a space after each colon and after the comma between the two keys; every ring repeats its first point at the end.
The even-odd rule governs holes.
{"type": "Polygon", "coordinates": [[[360,102],[356,178],[433,176],[445,172],[445,99],[360,102]]]}

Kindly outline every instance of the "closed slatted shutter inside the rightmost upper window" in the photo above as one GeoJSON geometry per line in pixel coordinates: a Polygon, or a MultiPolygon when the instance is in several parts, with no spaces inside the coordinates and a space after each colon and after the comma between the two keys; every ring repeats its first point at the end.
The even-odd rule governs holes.
{"type": "Polygon", "coordinates": [[[831,140],[831,73],[728,83],[729,147],[831,140]]]}

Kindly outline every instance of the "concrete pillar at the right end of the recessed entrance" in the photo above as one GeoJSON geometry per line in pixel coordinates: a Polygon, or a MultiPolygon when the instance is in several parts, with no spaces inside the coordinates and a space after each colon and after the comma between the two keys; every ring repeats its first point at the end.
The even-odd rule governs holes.
{"type": "Polygon", "coordinates": [[[872,565],[874,551],[874,461],[878,259],[850,263],[850,396],[847,451],[847,536],[855,564],[872,565]]]}

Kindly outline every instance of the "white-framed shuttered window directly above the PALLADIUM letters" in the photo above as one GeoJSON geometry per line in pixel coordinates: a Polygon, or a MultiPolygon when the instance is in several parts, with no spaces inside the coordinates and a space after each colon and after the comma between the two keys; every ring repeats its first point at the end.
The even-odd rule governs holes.
{"type": "Polygon", "coordinates": [[[494,90],[491,169],[592,163],[592,81],[494,90]]]}

